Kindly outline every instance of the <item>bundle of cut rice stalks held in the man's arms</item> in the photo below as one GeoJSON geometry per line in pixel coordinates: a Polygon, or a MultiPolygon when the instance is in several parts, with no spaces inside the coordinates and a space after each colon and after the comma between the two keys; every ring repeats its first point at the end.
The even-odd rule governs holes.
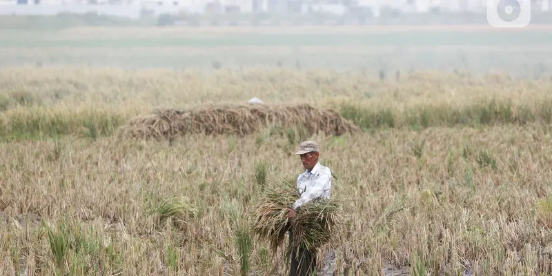
{"type": "Polygon", "coordinates": [[[331,242],[335,225],[339,221],[339,206],[333,199],[315,199],[295,210],[295,217],[287,214],[300,194],[293,184],[284,181],[282,186],[268,188],[255,210],[253,230],[260,239],[270,244],[273,254],[282,246],[288,230],[293,230],[293,239],[286,248],[286,255],[304,248],[315,252],[331,242]]]}

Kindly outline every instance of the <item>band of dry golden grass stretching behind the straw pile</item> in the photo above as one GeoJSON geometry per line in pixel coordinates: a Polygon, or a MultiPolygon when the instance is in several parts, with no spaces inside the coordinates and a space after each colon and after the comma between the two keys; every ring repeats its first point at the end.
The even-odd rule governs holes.
{"type": "Polygon", "coordinates": [[[50,110],[87,108],[119,114],[147,114],[152,108],[190,108],[204,104],[246,103],[259,97],[267,103],[295,102],[331,106],[340,99],[402,110],[417,104],[470,105],[499,97],[516,103],[541,101],[550,79],[483,77],[452,72],[402,72],[400,81],[386,81],[362,72],[334,70],[195,70],[117,68],[16,68],[1,70],[2,95],[26,92],[50,110]]]}

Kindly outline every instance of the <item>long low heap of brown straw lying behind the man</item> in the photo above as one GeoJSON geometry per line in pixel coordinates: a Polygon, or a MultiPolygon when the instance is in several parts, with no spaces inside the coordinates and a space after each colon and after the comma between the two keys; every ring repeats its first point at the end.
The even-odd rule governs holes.
{"type": "Polygon", "coordinates": [[[174,139],[196,133],[244,136],[276,124],[282,128],[297,128],[300,124],[311,134],[342,135],[359,131],[358,126],[334,110],[319,110],[308,105],[253,105],[157,110],[150,116],[131,119],[119,135],[139,139],[174,139]]]}

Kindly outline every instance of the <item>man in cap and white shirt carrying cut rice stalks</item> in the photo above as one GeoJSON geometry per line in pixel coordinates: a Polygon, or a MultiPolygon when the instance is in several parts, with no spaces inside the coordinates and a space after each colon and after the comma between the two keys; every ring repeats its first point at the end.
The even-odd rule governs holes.
{"type": "MultiPolygon", "coordinates": [[[[308,201],[317,198],[330,199],[332,173],[331,170],[318,163],[319,147],[315,141],[304,141],[299,145],[299,150],[295,155],[301,157],[302,164],[306,169],[297,178],[297,189],[301,197],[295,201],[288,212],[290,220],[295,217],[295,210],[303,206],[308,201]]],[[[293,231],[290,231],[290,241],[293,239],[293,231]]],[[[316,270],[316,253],[308,252],[303,248],[298,248],[298,255],[291,257],[290,276],[295,275],[313,275],[316,270]]]]}

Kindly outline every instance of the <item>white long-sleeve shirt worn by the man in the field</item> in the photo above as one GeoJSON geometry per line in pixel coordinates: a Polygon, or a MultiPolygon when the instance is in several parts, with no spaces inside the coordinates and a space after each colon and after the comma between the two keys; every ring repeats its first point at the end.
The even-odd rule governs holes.
{"type": "Polygon", "coordinates": [[[301,197],[293,204],[293,210],[318,197],[330,199],[332,172],[330,168],[317,163],[311,172],[305,170],[297,177],[297,189],[301,197]]]}

